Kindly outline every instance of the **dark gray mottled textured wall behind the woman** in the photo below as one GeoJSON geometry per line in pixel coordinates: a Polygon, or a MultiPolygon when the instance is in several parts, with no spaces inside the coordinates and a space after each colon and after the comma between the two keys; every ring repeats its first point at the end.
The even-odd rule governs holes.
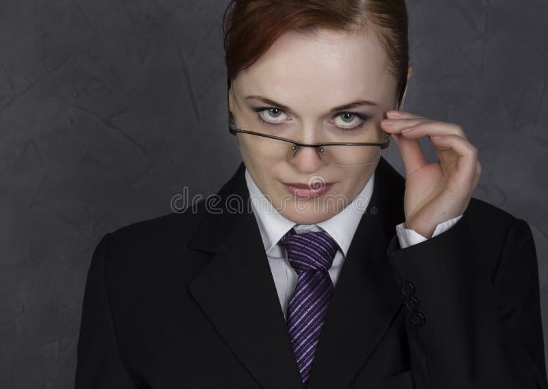
{"type": "MultiPolygon", "coordinates": [[[[225,4],[0,0],[0,388],[71,388],[102,235],[169,213],[184,186],[214,193],[236,169],[225,4]]],[[[529,222],[547,329],[548,3],[408,9],[406,109],[462,124],[483,167],[474,196],[529,222]]],[[[403,172],[395,144],[384,155],[403,172]]]]}

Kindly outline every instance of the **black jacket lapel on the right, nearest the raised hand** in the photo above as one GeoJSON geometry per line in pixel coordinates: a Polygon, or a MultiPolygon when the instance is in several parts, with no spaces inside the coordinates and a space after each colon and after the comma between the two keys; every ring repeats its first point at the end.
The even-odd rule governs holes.
{"type": "Polygon", "coordinates": [[[371,201],[340,271],[308,389],[347,388],[401,309],[386,249],[390,240],[397,239],[396,224],[403,222],[399,207],[403,189],[399,180],[387,180],[397,174],[387,165],[384,160],[379,162],[371,201]]]}

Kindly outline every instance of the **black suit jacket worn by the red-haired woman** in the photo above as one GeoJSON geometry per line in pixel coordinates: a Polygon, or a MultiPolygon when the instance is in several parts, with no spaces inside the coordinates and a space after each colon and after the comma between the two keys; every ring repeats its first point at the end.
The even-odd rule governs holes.
{"type": "MultiPolygon", "coordinates": [[[[101,239],[77,389],[302,388],[256,219],[235,200],[244,172],[217,200],[101,239]]],[[[450,230],[401,249],[404,189],[382,158],[308,388],[548,388],[530,227],[472,198],[450,230]]]]}

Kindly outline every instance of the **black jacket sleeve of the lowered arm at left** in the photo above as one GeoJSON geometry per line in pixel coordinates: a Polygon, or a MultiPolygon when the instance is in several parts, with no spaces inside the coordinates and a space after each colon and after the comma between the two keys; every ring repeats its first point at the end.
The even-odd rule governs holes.
{"type": "Polygon", "coordinates": [[[116,332],[105,288],[105,256],[110,233],[93,253],[88,269],[77,345],[75,389],[136,389],[116,345],[116,332]]]}

